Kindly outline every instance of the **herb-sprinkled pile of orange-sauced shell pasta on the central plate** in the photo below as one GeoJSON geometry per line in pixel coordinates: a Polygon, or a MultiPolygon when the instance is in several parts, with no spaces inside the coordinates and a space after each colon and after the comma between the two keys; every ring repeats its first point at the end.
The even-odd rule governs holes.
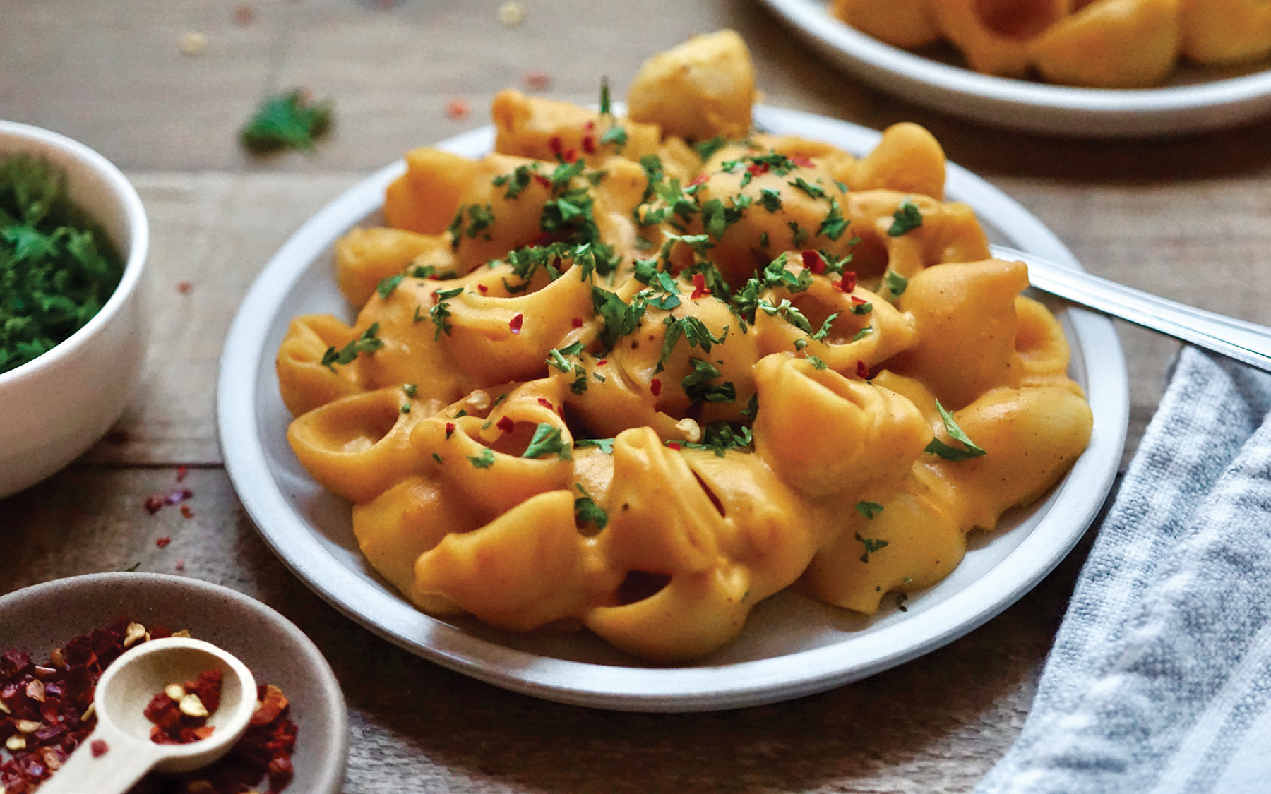
{"type": "Polygon", "coordinates": [[[785,588],[939,581],[1085,448],[1064,334],[937,141],[752,132],[754,94],[727,30],[628,117],[503,91],[494,152],[409,152],[337,243],[361,311],[292,320],[287,438],[421,610],[690,661],[785,588]]]}

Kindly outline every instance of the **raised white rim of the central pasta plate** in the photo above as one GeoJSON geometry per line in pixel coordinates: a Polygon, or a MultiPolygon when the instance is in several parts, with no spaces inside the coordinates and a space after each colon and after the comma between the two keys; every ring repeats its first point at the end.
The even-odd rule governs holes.
{"type": "MultiPolygon", "coordinates": [[[[765,123],[798,124],[802,132],[811,131],[808,137],[813,138],[821,131],[829,133],[830,140],[854,137],[872,141],[864,147],[881,137],[876,131],[849,122],[763,105],[755,108],[755,121],[760,127],[765,123]]],[[[493,146],[493,130],[482,127],[436,146],[451,151],[488,149],[493,146]]],[[[1042,518],[1018,548],[980,579],[946,601],[871,635],[876,643],[894,640],[890,652],[867,654],[867,661],[844,667],[841,645],[850,642],[848,639],[822,648],[726,666],[620,667],[515,650],[432,619],[395,593],[367,588],[365,581],[353,575],[308,531],[269,471],[255,414],[258,372],[262,361],[272,361],[275,356],[275,351],[263,346],[276,320],[277,304],[315,257],[329,249],[353,222],[383,203],[384,188],[404,168],[404,160],[390,163],[347,189],[301,225],[264,267],[243,299],[225,339],[216,389],[216,418],[226,473],[262,539],[328,603],[405,650],[503,689],[573,705],[628,711],[699,711],[788,700],[906,662],[998,615],[1068,554],[1111,489],[1129,423],[1125,360],[1111,320],[1069,309],[1077,332],[1074,342],[1080,343],[1085,366],[1089,371],[1106,375],[1099,379],[1099,387],[1091,390],[1092,405],[1096,396],[1101,400],[1091,447],[1061,481],[1056,490],[1057,501],[1047,512],[1057,516],[1066,511],[1079,516],[1073,522],[1079,528],[1069,528],[1052,537],[1056,535],[1054,531],[1037,531],[1042,526],[1049,527],[1042,518]],[[267,358],[262,360],[262,356],[267,358]],[[1101,452],[1098,460],[1089,454],[1093,450],[1101,452]],[[1097,498],[1078,494],[1079,489],[1073,485],[1078,480],[1083,483],[1084,492],[1097,492],[1097,498]],[[1030,555],[1042,562],[1024,567],[1012,564],[1030,555]],[[352,592],[341,592],[343,586],[351,587],[352,592]],[[362,601],[355,603],[358,598],[353,596],[360,596],[362,601]],[[956,614],[956,607],[963,606],[963,601],[979,603],[971,617],[956,614]],[[402,625],[414,633],[407,635],[402,625]],[[723,671],[728,675],[719,675],[723,671]]],[[[958,201],[975,206],[977,199],[990,198],[999,205],[993,220],[995,225],[1007,222],[1013,229],[1026,230],[1031,244],[1019,243],[1019,248],[1065,267],[1080,268],[1059,238],[1023,206],[966,169],[953,164],[948,169],[948,183],[953,185],[951,192],[958,201]]]]}

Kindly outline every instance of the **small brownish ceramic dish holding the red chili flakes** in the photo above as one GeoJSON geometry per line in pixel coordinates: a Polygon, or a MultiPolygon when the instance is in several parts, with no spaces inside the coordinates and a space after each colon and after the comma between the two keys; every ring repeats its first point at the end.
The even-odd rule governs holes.
{"type": "Polygon", "coordinates": [[[0,652],[47,658],[53,648],[119,617],[188,629],[229,650],[261,683],[291,701],[296,723],[295,794],[336,794],[344,783],[348,715],[336,675],[291,621],[226,587],[158,573],[98,573],[27,587],[0,597],[0,652]]]}

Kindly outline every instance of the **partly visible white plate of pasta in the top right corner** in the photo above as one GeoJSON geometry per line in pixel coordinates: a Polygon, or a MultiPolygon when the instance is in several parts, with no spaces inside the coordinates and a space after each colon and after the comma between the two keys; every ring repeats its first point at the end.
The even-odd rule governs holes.
{"type": "Polygon", "coordinates": [[[866,36],[826,0],[763,0],[826,58],[874,88],[972,121],[1074,136],[1150,136],[1218,130],[1271,112],[1271,66],[1200,71],[1163,88],[1089,89],[981,75],[866,36]]]}

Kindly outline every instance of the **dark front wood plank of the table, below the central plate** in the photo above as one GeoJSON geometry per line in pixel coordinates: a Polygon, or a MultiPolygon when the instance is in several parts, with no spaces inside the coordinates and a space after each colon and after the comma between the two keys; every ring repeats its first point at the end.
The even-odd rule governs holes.
{"type": "Polygon", "coordinates": [[[969,791],[1023,724],[1084,558],[966,638],[850,686],[737,711],[614,714],[512,695],[380,640],[283,568],[222,470],[175,476],[78,465],[0,501],[0,593],[140,563],[264,601],[318,644],[344,687],[350,793],[969,791]],[[142,507],[177,487],[193,490],[193,518],[142,507]]]}

